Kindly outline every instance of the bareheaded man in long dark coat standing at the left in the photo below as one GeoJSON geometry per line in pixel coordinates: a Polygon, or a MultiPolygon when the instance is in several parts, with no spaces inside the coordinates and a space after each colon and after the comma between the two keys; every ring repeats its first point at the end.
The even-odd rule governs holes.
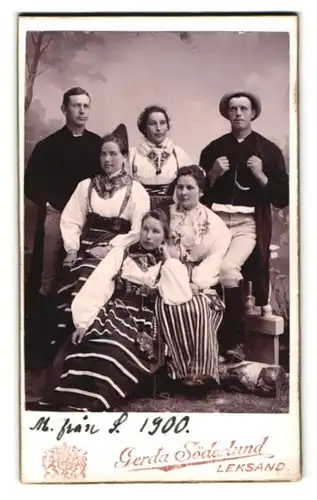
{"type": "Polygon", "coordinates": [[[65,255],[61,213],[77,184],[100,171],[100,137],[85,128],[90,103],[88,92],[80,87],[65,92],[65,126],[36,144],[25,171],[25,195],[38,207],[25,297],[26,361],[45,363],[54,336],[54,296],[65,255]]]}

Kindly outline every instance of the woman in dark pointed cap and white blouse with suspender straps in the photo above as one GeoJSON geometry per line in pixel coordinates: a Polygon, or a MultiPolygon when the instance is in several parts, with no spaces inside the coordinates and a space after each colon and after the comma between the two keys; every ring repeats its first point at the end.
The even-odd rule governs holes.
{"type": "Polygon", "coordinates": [[[70,303],[111,248],[139,240],[141,220],[150,208],[143,186],[126,170],[128,139],[124,125],[103,137],[102,173],[80,182],[61,217],[67,252],[58,300],[58,335],[73,329],[70,303]]]}

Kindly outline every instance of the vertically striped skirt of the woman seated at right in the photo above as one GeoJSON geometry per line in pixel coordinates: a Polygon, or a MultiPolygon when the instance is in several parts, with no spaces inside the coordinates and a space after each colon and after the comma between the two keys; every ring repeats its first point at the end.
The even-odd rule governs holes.
{"type": "Polygon", "coordinates": [[[215,291],[195,295],[178,306],[156,301],[155,312],[166,342],[172,379],[203,378],[219,382],[217,331],[224,305],[215,291]]]}

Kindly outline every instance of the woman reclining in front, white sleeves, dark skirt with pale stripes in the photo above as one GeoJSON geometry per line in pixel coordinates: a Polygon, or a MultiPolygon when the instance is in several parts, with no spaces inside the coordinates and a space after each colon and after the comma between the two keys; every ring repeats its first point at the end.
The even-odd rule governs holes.
{"type": "Polygon", "coordinates": [[[158,290],[170,304],[189,298],[186,269],[161,250],[168,219],[152,210],[140,242],[113,248],[72,303],[76,330],[59,383],[40,405],[60,410],[108,411],[160,366],[154,317],[158,290]]]}

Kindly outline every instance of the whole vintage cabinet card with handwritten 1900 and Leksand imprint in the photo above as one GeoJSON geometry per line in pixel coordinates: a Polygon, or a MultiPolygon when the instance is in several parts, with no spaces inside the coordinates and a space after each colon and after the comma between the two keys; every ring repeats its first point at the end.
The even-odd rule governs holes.
{"type": "Polygon", "coordinates": [[[21,15],[21,481],[298,481],[298,19],[21,15]]]}

